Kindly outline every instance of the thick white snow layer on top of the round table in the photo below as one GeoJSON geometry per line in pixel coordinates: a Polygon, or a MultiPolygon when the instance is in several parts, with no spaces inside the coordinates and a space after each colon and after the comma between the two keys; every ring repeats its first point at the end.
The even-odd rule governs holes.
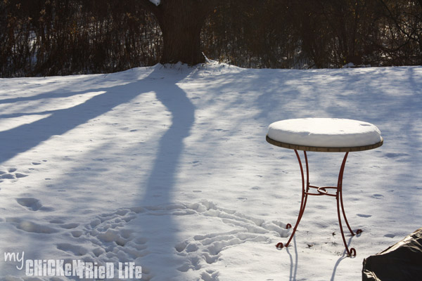
{"type": "Polygon", "coordinates": [[[286,119],[269,125],[274,141],[322,148],[351,148],[379,143],[381,131],[368,122],[340,118],[286,119]]]}

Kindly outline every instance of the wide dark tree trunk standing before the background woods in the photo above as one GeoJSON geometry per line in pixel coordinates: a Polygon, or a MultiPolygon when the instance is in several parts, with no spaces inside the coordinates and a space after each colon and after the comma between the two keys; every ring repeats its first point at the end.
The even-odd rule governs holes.
{"type": "Polygon", "coordinates": [[[160,63],[204,63],[200,30],[218,0],[161,0],[158,6],[143,1],[160,24],[163,41],[160,63]]]}

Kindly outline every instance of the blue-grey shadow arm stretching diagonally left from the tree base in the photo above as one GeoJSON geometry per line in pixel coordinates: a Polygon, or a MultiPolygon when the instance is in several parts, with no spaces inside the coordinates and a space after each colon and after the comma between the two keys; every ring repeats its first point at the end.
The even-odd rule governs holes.
{"type": "MultiPolygon", "coordinates": [[[[153,72],[154,73],[154,72],[153,72]]],[[[151,73],[148,77],[151,77],[151,73]]],[[[31,114],[48,114],[49,117],[39,119],[30,124],[23,124],[8,131],[0,131],[0,163],[12,159],[16,155],[36,147],[43,141],[47,141],[51,136],[60,136],[75,129],[77,126],[88,122],[100,115],[113,110],[113,107],[129,102],[136,96],[153,91],[148,77],[141,81],[132,82],[120,86],[113,86],[101,89],[87,89],[86,91],[70,93],[58,93],[57,96],[68,97],[83,95],[92,91],[105,91],[105,93],[94,96],[89,100],[61,110],[48,110],[31,114]]],[[[50,93],[39,96],[51,96],[50,93]]],[[[34,98],[32,98],[34,99],[34,98]]],[[[28,113],[5,115],[1,117],[18,117],[20,115],[30,115],[28,113]]]]}

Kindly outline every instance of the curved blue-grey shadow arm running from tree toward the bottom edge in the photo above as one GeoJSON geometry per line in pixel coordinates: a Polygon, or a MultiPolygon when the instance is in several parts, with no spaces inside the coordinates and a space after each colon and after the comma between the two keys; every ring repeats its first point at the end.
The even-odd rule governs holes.
{"type": "MultiPolygon", "coordinates": [[[[190,135],[195,120],[195,108],[176,82],[173,83],[172,81],[172,83],[167,84],[164,91],[155,90],[156,98],[171,112],[172,124],[160,138],[153,169],[148,176],[146,186],[141,186],[141,190],[144,191],[143,196],[141,200],[134,201],[137,206],[166,209],[169,204],[173,203],[172,194],[175,192],[177,169],[184,151],[184,138],[190,135]]],[[[162,114],[165,113],[162,112],[162,114]]],[[[174,222],[174,216],[171,214],[155,216],[152,225],[150,223],[146,226],[141,223],[140,230],[146,228],[153,230],[152,233],[172,233],[172,235],[170,240],[167,241],[158,241],[155,237],[148,237],[148,249],[151,247],[153,253],[143,258],[142,266],[153,268],[150,269],[152,274],[150,277],[159,277],[156,276],[155,270],[160,270],[161,275],[172,276],[176,280],[180,273],[178,270],[174,270],[175,268],[172,268],[172,266],[174,266],[174,259],[177,259],[174,247],[180,241],[176,240],[178,226],[174,222]],[[169,245],[169,247],[160,246],[162,244],[169,245]],[[166,266],[169,260],[171,264],[166,266]],[[159,264],[157,264],[157,261],[159,261],[159,264]],[[157,268],[157,266],[160,268],[157,268]]]]}

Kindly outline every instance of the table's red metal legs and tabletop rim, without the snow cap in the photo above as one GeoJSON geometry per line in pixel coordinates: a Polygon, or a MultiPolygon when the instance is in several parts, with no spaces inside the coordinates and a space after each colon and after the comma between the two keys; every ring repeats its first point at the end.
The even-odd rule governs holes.
{"type": "MultiPolygon", "coordinates": [[[[314,147],[314,146],[305,146],[305,145],[295,145],[291,143],[281,143],[279,141],[274,141],[273,139],[269,138],[267,136],[267,142],[271,143],[272,145],[279,146],[281,148],[289,148],[295,150],[296,157],[298,158],[299,166],[300,166],[300,174],[302,175],[302,200],[300,202],[300,209],[299,209],[299,215],[298,219],[296,221],[295,227],[293,228],[293,233],[290,235],[290,238],[286,244],[283,244],[282,242],[279,242],[276,244],[277,248],[283,248],[288,247],[290,244],[290,241],[293,239],[293,236],[296,233],[296,230],[298,229],[300,220],[302,219],[302,216],[305,212],[305,207],[307,203],[307,197],[308,195],[312,196],[322,196],[327,195],[331,197],[335,197],[335,200],[337,202],[337,214],[338,214],[338,224],[340,226],[340,233],[343,238],[343,243],[345,244],[345,248],[347,251],[347,256],[356,256],[356,249],[350,248],[347,246],[347,242],[345,239],[345,233],[343,231],[343,223],[341,219],[341,214],[343,214],[344,221],[347,225],[347,228],[350,231],[350,234],[352,236],[357,235],[359,233],[362,233],[361,229],[358,229],[356,233],[353,232],[352,228],[350,228],[350,224],[347,221],[346,213],[345,213],[345,207],[343,204],[343,173],[345,171],[345,165],[347,160],[347,155],[349,155],[349,152],[352,151],[362,151],[362,150],[370,150],[373,148],[378,148],[381,145],[383,145],[383,138],[381,138],[381,141],[379,143],[375,143],[373,145],[364,145],[364,146],[355,146],[350,148],[324,148],[324,147],[314,147]],[[299,155],[298,150],[303,150],[303,154],[305,156],[305,166],[306,166],[306,181],[305,181],[305,173],[302,166],[302,161],[299,155]],[[343,157],[343,162],[340,166],[340,172],[338,173],[338,181],[337,186],[324,186],[319,187],[315,185],[309,184],[309,164],[307,160],[307,151],[316,151],[316,152],[345,152],[345,156],[343,157]],[[309,192],[310,189],[316,190],[316,192],[309,192]],[[334,192],[328,192],[328,190],[333,190],[334,192]],[[341,207],[341,209],[340,209],[341,207]],[[341,213],[341,214],[340,214],[341,213]]],[[[290,223],[287,224],[286,228],[291,228],[292,226],[290,223]]]]}

